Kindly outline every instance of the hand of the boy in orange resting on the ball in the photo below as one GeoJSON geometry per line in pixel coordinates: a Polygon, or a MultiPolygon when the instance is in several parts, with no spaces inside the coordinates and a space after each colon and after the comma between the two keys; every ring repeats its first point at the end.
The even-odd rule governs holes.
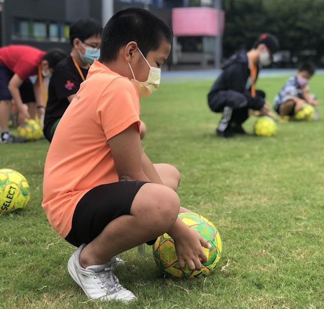
{"type": "Polygon", "coordinates": [[[187,226],[184,226],[181,233],[177,234],[177,237],[173,237],[173,239],[179,267],[184,269],[185,264],[187,264],[189,270],[200,271],[201,262],[207,261],[203,246],[210,248],[210,244],[198,232],[187,226]]]}

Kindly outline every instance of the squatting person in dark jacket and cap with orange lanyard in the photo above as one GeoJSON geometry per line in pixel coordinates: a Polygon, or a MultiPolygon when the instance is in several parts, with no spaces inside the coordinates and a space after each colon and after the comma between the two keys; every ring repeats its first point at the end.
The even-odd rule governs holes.
{"type": "Polygon", "coordinates": [[[274,35],[262,33],[248,53],[240,52],[225,62],[208,94],[210,109],[223,114],[216,135],[230,138],[235,134],[246,134],[242,123],[248,119],[249,109],[276,119],[266,105],[265,93],[256,90],[255,84],[260,68],[271,63],[278,46],[274,35]]]}

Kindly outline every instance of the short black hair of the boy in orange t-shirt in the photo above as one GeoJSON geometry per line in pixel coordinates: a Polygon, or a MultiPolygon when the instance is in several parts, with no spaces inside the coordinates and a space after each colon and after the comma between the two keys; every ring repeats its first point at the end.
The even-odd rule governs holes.
{"type": "Polygon", "coordinates": [[[137,42],[146,57],[149,51],[156,51],[164,39],[172,46],[172,31],[163,20],[144,9],[122,10],[103,28],[99,60],[115,60],[119,49],[130,41],[137,42]]]}

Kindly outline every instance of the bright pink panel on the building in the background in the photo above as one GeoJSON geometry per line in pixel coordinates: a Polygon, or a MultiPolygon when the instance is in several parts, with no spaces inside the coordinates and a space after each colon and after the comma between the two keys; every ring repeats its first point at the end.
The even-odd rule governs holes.
{"type": "MultiPolygon", "coordinates": [[[[217,10],[212,8],[175,8],[172,10],[172,29],[176,36],[216,36],[217,10]]],[[[221,28],[224,32],[225,14],[221,11],[221,28]]]]}

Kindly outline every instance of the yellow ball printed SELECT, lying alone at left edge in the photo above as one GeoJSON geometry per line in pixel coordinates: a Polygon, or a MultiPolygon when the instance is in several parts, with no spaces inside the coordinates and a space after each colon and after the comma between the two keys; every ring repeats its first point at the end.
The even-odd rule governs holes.
{"type": "Polygon", "coordinates": [[[24,208],[30,198],[30,189],[25,177],[10,168],[0,169],[0,212],[24,208]]]}

